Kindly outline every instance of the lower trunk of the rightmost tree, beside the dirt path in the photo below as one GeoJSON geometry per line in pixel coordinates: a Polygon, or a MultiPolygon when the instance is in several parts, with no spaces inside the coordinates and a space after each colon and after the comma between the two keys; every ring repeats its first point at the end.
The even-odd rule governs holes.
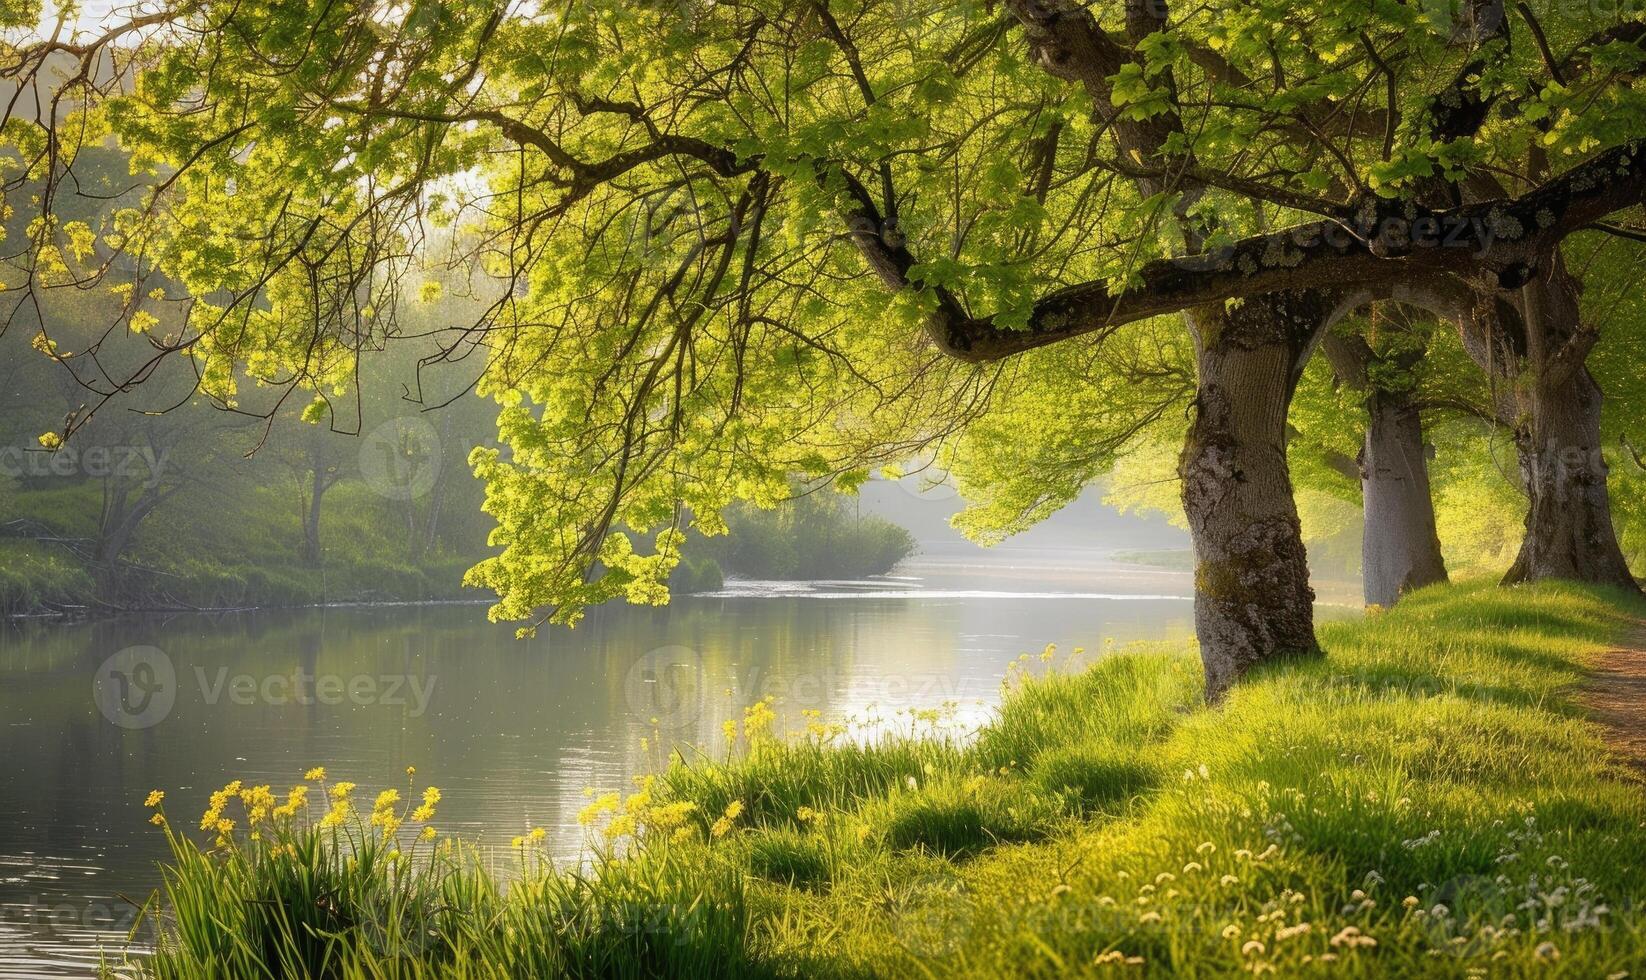
{"type": "Polygon", "coordinates": [[[1526,537],[1504,585],[1570,578],[1636,588],[1611,524],[1600,451],[1600,385],[1587,367],[1542,377],[1531,423],[1518,435],[1531,504],[1526,537]]]}

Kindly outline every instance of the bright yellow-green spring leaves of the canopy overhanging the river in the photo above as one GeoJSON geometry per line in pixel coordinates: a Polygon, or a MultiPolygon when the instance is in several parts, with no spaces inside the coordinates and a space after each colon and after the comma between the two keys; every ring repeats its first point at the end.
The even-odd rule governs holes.
{"type": "Polygon", "coordinates": [[[940,301],[1019,329],[1185,234],[1216,249],[1527,173],[1534,148],[1560,171],[1646,128],[1613,8],[1527,7],[1559,71],[1521,21],[1478,33],[1447,3],[1220,2],[1142,33],[1091,10],[1114,61],[1080,86],[1016,8],[973,0],[178,5],[122,36],[119,84],[71,86],[58,138],[7,127],[8,232],[31,245],[12,278],[107,287],[112,323],[206,397],[301,389],[311,422],[364,354],[433,336],[413,295],[471,295],[433,359],[479,354],[499,408],[472,456],[499,552],[469,581],[499,618],[574,621],[667,601],[680,537],[734,502],[922,450],[996,539],[1182,405],[1174,323],[1001,371],[915,343],[940,301]],[[1450,135],[1460,77],[1490,114],[1450,135]],[[1128,127],[1160,127],[1157,158],[1128,127]],[[137,180],[71,201],[110,142],[137,180]],[[866,275],[869,240],[897,268],[866,275]]]}

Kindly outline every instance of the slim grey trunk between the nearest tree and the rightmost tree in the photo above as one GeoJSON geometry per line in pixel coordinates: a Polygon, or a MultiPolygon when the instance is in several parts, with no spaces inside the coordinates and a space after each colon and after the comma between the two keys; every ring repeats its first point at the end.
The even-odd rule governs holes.
{"type": "Polygon", "coordinates": [[[1393,606],[1425,585],[1445,581],[1435,532],[1422,413],[1402,392],[1376,392],[1360,456],[1366,530],[1361,575],[1368,606],[1393,606]]]}

